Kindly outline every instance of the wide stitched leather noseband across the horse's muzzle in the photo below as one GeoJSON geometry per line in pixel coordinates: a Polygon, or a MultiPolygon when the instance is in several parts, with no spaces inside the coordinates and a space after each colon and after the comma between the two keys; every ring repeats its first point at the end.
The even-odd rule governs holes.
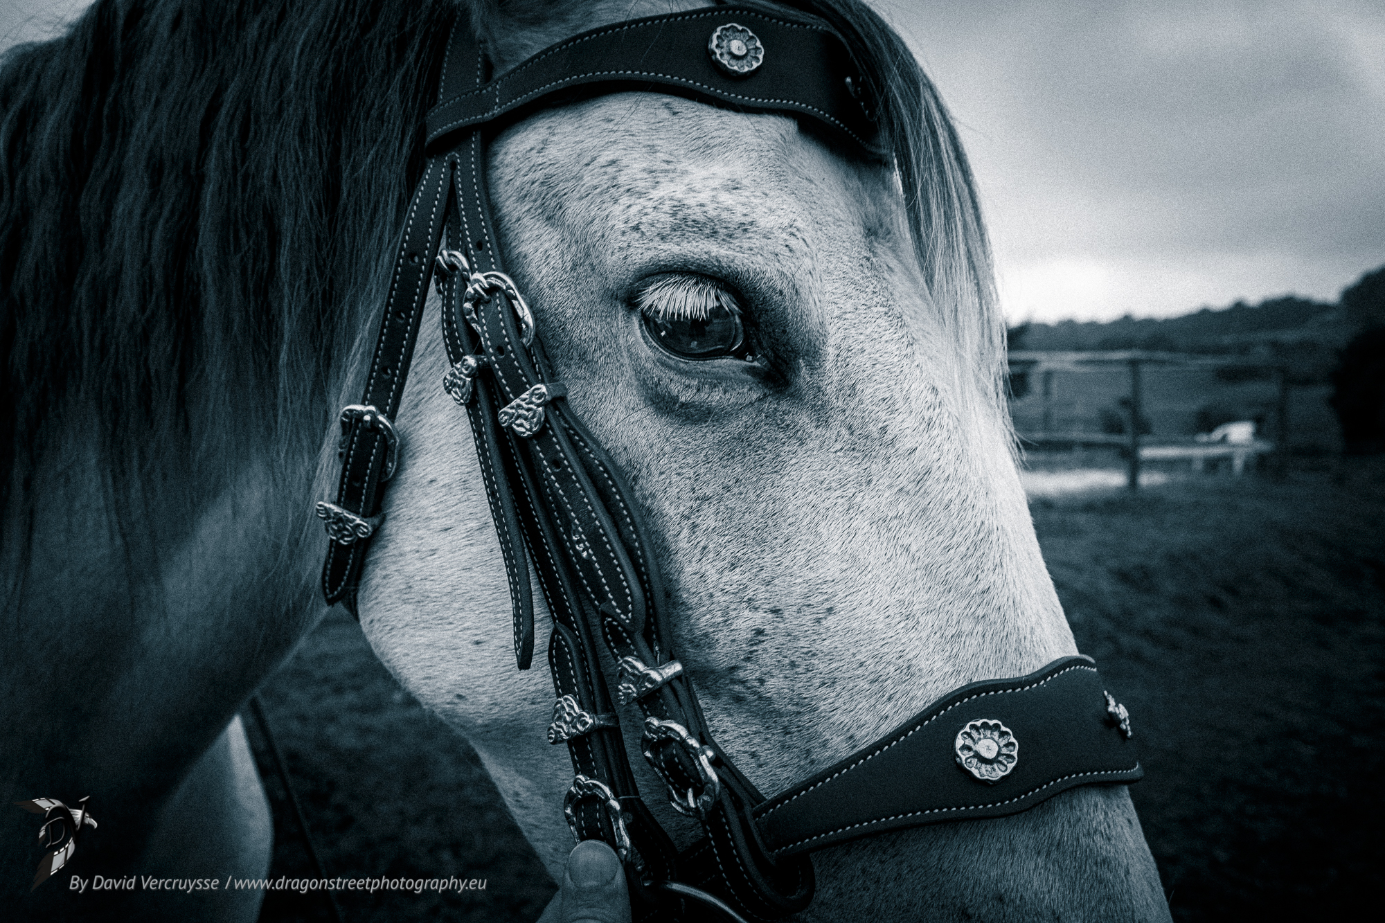
{"type": "Polygon", "coordinates": [[[884,830],[1017,814],[1075,786],[1143,777],[1118,725],[1091,658],[1064,657],[949,693],[758,805],[755,816],[774,855],[792,855],[884,830]],[[1017,744],[1012,768],[994,783],[958,765],[957,737],[972,722],[999,723],[1017,744]]]}

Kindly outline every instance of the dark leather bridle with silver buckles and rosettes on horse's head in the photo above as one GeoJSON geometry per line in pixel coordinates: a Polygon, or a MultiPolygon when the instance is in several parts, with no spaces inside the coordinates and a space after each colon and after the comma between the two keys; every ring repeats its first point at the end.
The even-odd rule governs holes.
{"type": "Polygon", "coordinates": [[[638,504],[573,413],[533,313],[501,270],[485,184],[499,123],[583,96],[645,90],[794,115],[873,155],[871,75],[848,47],[817,19],[713,7],[594,29],[488,80],[485,57],[456,24],[364,394],[341,413],[337,499],[317,504],[331,538],[324,595],[355,611],[399,453],[391,420],[436,281],[452,362],[443,387],[471,420],[519,669],[533,656],[530,563],[553,614],[548,740],[568,746],[575,771],[564,814],[579,841],[616,850],[637,923],[697,916],[688,901],[733,920],[781,919],[813,897],[810,851],[1015,814],[1073,786],[1143,776],[1125,708],[1091,660],[1064,657],[1028,676],[957,689],[835,766],[762,795],[716,744],[674,658],[638,504]],[[670,804],[702,825],[705,836],[681,854],[640,798],[600,643],[618,664],[615,698],[644,714],[643,751],[670,804]]]}

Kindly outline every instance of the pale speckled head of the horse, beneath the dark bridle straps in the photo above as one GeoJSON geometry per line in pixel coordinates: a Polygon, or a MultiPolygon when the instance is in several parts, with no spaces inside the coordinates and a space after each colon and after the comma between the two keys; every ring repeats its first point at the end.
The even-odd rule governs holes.
{"type": "MultiPolygon", "coordinates": [[[[670,4],[616,6],[506,4],[479,30],[504,73],[670,4]]],[[[553,374],[647,520],[708,725],[767,793],[947,690],[1076,653],[1015,470],[965,158],[931,85],[909,67],[892,76],[914,80],[882,90],[896,111],[913,104],[886,129],[911,162],[781,114],[619,91],[507,125],[485,166],[553,374]]],[[[424,319],[396,420],[406,460],[360,619],[399,680],[475,746],[561,874],[572,766],[543,733],[547,671],[515,671],[485,481],[438,385],[440,310],[424,319]]],[[[620,718],[638,728],[633,708],[620,718]]],[[[643,768],[638,737],[626,746],[643,768]]],[[[652,773],[640,783],[663,790],[652,773]]],[[[688,826],[648,801],[686,845],[688,826]]],[[[1166,915],[1114,786],[832,847],[814,865],[803,919],[1166,915]]]]}

